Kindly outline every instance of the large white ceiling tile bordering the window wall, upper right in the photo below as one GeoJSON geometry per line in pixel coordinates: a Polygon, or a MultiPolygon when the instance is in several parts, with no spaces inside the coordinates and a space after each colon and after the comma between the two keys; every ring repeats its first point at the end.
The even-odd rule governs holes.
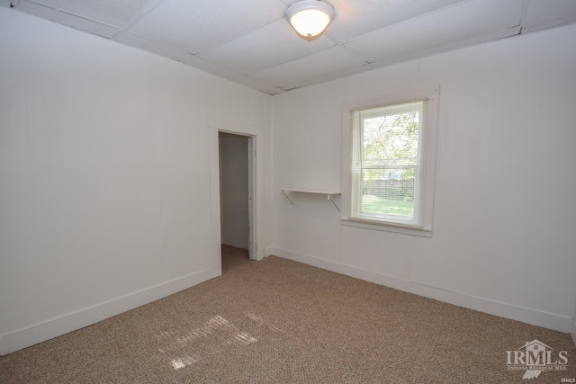
{"type": "Polygon", "coordinates": [[[392,25],[346,46],[368,62],[421,56],[424,50],[517,27],[521,9],[522,0],[475,0],[392,25]]]}

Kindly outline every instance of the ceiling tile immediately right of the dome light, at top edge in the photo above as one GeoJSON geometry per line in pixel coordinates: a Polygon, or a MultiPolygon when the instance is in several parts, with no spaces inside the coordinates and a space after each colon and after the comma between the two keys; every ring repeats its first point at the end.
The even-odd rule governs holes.
{"type": "MultiPolygon", "coordinates": [[[[337,9],[329,35],[345,42],[365,33],[379,30],[396,22],[410,20],[462,0],[333,0],[337,9]]],[[[506,0],[508,1],[508,0],[506,0]]]]}

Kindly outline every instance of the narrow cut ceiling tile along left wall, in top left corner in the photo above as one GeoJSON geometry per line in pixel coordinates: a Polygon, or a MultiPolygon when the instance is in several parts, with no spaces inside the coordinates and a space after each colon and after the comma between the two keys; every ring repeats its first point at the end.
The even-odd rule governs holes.
{"type": "Polygon", "coordinates": [[[103,36],[105,38],[112,38],[117,32],[117,28],[109,25],[104,25],[99,22],[92,22],[80,17],[76,17],[70,13],[58,12],[53,8],[44,5],[31,3],[26,0],[20,0],[16,9],[25,13],[33,14],[34,16],[41,17],[42,19],[59,22],[60,24],[68,25],[76,30],[90,32],[94,35],[103,36]]]}

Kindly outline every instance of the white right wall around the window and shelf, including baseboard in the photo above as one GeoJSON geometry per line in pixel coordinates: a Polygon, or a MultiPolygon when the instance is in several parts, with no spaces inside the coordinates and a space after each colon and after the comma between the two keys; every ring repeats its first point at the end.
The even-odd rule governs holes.
{"type": "Polygon", "coordinates": [[[270,252],[570,332],[576,284],[576,25],[410,61],[274,99],[270,252]],[[433,235],[342,227],[342,106],[440,85],[433,235]]]}

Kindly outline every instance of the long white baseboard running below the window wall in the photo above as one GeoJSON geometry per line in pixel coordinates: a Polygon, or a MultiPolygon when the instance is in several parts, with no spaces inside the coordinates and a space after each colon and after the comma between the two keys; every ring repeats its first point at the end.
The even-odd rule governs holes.
{"type": "MultiPolygon", "coordinates": [[[[352,265],[321,259],[311,255],[295,253],[279,247],[272,247],[270,251],[271,255],[283,257],[295,262],[310,264],[328,271],[346,274],[347,276],[355,277],[356,279],[374,282],[396,290],[403,290],[405,292],[424,296],[429,299],[437,299],[459,307],[470,308],[494,316],[506,317],[534,326],[554,329],[555,331],[563,333],[571,332],[572,319],[570,317],[564,317],[532,308],[519,307],[491,299],[465,295],[451,290],[443,290],[419,282],[404,280],[379,272],[368,271],[352,265]]],[[[573,324],[572,337],[574,337],[573,324]]]]}

